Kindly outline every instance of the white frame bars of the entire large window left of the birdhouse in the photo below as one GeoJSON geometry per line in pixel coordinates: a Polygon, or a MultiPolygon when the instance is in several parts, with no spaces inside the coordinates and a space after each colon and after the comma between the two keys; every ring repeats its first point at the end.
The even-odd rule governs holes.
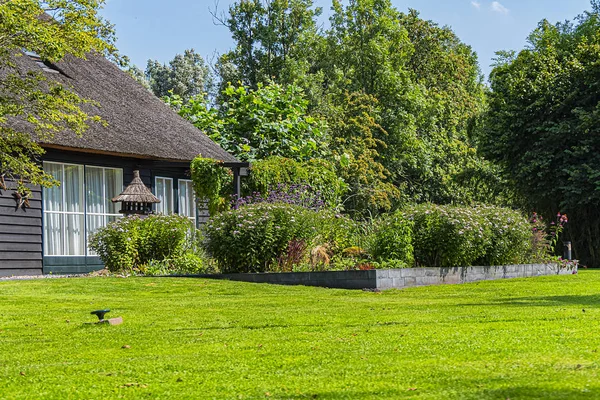
{"type": "MultiPolygon", "coordinates": [[[[121,214],[109,214],[109,213],[88,213],[87,212],[87,180],[85,177],[85,171],[86,168],[91,167],[91,168],[101,168],[102,171],[102,197],[104,198],[104,210],[108,209],[108,201],[110,201],[110,199],[106,198],[106,170],[110,169],[110,170],[120,170],[121,171],[121,181],[123,180],[123,168],[115,168],[115,167],[102,167],[102,166],[96,166],[96,165],[86,165],[86,164],[75,164],[75,163],[65,163],[65,162],[58,162],[58,161],[44,161],[44,164],[54,164],[54,165],[60,165],[62,167],[62,176],[61,176],[61,195],[62,195],[62,203],[64,205],[65,202],[65,198],[66,198],[66,186],[63,184],[65,182],[65,166],[71,165],[71,166],[76,166],[76,167],[81,167],[81,174],[82,176],[80,176],[81,178],[81,182],[83,183],[83,186],[80,190],[82,190],[82,204],[81,204],[81,212],[75,212],[75,211],[47,211],[46,207],[45,207],[45,199],[42,202],[42,212],[44,214],[44,223],[42,226],[42,231],[43,231],[43,240],[44,240],[44,249],[43,249],[43,254],[46,257],[85,257],[85,256],[90,256],[90,255],[95,255],[93,253],[90,252],[89,248],[88,248],[88,221],[87,221],[87,216],[105,216],[104,218],[104,222],[105,225],[108,222],[108,217],[109,216],[116,216],[116,217],[122,217],[121,214]],[[66,227],[67,227],[67,220],[66,220],[66,216],[67,215],[83,215],[83,243],[84,243],[84,253],[83,254],[66,254],[66,247],[67,247],[67,241],[66,239],[63,240],[63,244],[62,244],[62,254],[52,254],[49,255],[47,254],[47,247],[46,247],[46,243],[48,240],[47,234],[46,234],[46,218],[45,215],[46,214],[55,214],[55,215],[62,215],[61,217],[61,235],[63,238],[67,237],[66,234],[66,227]]],[[[123,182],[121,182],[121,190],[123,188],[123,182]]]]}

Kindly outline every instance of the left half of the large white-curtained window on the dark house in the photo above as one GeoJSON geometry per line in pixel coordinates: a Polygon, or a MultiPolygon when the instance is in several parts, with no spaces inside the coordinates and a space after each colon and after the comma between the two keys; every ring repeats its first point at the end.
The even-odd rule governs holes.
{"type": "Polygon", "coordinates": [[[61,184],[44,188],[44,254],[85,254],[83,165],[44,163],[61,184]]]}

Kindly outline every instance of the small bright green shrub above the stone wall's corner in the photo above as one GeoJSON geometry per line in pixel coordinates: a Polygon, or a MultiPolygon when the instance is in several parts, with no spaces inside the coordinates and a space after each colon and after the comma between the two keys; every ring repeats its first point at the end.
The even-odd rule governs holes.
{"type": "Polygon", "coordinates": [[[373,259],[377,262],[396,260],[412,265],[413,226],[413,221],[398,211],[377,220],[368,240],[369,253],[373,259]]]}

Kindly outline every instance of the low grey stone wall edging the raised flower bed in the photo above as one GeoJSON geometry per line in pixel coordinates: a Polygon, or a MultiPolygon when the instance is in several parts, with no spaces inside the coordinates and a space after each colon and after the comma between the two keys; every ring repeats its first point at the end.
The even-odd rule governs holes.
{"type": "Polygon", "coordinates": [[[470,283],[484,280],[529,278],[544,275],[576,274],[577,267],[559,264],[502,265],[495,267],[403,268],[367,271],[269,272],[256,274],[194,275],[199,278],[319,286],[336,289],[404,289],[415,286],[470,283]]]}

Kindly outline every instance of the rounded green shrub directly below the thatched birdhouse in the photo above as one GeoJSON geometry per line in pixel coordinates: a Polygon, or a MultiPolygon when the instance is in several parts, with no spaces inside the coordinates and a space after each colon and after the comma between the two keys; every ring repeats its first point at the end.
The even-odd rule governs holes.
{"type": "MultiPolygon", "coordinates": [[[[108,270],[139,269],[176,260],[196,248],[192,222],[179,215],[120,218],[100,228],[89,242],[108,270]]],[[[187,257],[187,256],[186,256],[187,257]]]]}

